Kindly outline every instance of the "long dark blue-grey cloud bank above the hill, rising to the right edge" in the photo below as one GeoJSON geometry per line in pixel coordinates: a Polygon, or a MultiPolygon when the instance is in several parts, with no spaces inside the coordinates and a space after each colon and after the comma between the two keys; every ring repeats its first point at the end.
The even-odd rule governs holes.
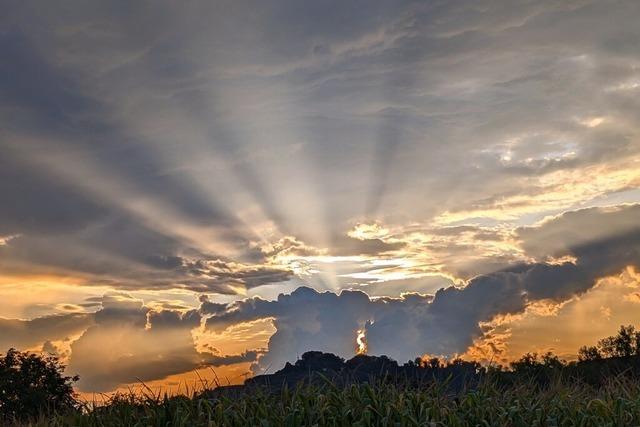
{"type": "Polygon", "coordinates": [[[275,301],[259,298],[216,305],[206,327],[222,331],[239,322],[272,318],[276,333],[268,352],[254,366],[276,369],[305,351],[353,354],[356,331],[365,329],[369,349],[400,361],[424,353],[465,352],[480,338],[482,323],[519,314],[535,302],[563,302],[592,288],[597,279],[628,265],[640,265],[640,230],[590,241],[571,248],[573,262],[520,264],[450,286],[433,296],[405,294],[370,298],[358,291],[319,293],[298,288],[275,301]]]}

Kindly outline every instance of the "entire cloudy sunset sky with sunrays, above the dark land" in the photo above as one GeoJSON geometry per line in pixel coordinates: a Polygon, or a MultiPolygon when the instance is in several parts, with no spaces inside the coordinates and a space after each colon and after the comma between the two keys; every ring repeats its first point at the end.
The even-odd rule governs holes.
{"type": "Polygon", "coordinates": [[[640,2],[0,5],[0,352],[175,391],[640,326],[640,2]]]}

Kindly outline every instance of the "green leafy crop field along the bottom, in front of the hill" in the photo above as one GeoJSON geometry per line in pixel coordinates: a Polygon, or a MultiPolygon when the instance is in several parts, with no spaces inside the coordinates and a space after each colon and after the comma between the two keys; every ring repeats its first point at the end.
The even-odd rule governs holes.
{"type": "Polygon", "coordinates": [[[117,395],[93,410],[20,426],[638,426],[640,383],[615,377],[594,388],[557,379],[546,386],[491,379],[452,394],[447,383],[380,381],[186,396],[117,395]]]}

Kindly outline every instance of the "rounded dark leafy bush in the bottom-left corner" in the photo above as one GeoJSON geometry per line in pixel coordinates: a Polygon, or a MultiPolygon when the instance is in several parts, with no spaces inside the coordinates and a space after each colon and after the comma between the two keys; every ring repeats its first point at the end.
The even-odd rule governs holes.
{"type": "Polygon", "coordinates": [[[0,357],[0,424],[77,407],[73,382],[49,356],[9,349],[0,357]]]}

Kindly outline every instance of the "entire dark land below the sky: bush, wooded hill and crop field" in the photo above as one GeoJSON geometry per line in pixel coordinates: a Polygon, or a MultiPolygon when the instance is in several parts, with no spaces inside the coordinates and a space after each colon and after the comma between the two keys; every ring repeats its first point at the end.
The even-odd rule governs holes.
{"type": "Polygon", "coordinates": [[[576,362],[527,354],[508,368],[308,352],[244,386],[117,395],[91,409],[76,400],[73,380],[53,359],[10,351],[0,359],[0,425],[634,426],[640,333],[622,327],[576,362]]]}

